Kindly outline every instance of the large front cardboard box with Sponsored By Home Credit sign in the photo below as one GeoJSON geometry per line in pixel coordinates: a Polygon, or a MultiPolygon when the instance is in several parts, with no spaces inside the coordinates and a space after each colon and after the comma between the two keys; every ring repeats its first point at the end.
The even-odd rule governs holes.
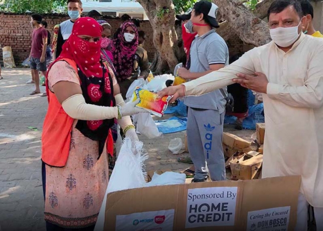
{"type": "Polygon", "coordinates": [[[112,192],[105,231],[292,231],[299,187],[289,176],[112,192]]]}

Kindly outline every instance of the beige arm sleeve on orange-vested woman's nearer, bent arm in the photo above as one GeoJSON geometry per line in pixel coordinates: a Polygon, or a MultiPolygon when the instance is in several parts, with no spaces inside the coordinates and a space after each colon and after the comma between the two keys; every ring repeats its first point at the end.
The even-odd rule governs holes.
{"type": "Polygon", "coordinates": [[[62,103],[62,107],[67,115],[73,119],[81,120],[101,120],[118,117],[117,107],[102,107],[87,104],[83,95],[73,95],[62,103]]]}

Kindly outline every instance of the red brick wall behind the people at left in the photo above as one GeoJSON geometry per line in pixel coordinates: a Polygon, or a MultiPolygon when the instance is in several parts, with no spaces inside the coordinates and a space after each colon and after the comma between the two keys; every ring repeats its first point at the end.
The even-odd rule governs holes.
{"type": "MultiPolygon", "coordinates": [[[[30,54],[31,34],[33,30],[30,19],[30,15],[0,13],[0,45],[2,47],[11,46],[16,65],[20,65],[30,54]]],[[[69,17],[65,15],[44,15],[44,20],[48,23],[47,30],[51,32],[52,37],[54,26],[67,19],[69,17]]],[[[106,20],[111,24],[113,33],[121,25],[119,18],[106,18],[106,20]]],[[[141,21],[139,30],[146,33],[144,48],[148,52],[149,61],[152,61],[155,47],[152,41],[150,22],[141,21]]],[[[3,65],[1,51],[0,63],[3,65]]]]}

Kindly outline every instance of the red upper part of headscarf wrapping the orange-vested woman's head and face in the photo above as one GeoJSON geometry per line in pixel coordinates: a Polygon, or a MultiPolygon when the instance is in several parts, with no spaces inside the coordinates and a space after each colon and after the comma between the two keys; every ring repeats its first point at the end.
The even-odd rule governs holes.
{"type": "Polygon", "coordinates": [[[101,58],[102,26],[93,18],[79,18],[73,26],[72,35],[64,43],[57,58],[72,59],[87,77],[102,77],[101,58]],[[100,37],[97,42],[89,42],[78,36],[100,37]]]}

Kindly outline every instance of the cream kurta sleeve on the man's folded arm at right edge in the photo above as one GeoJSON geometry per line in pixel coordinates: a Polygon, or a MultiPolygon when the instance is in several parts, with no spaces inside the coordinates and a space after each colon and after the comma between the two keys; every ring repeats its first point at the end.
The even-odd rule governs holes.
{"type": "MultiPolygon", "coordinates": [[[[309,60],[303,86],[268,83],[267,95],[291,107],[321,108],[323,106],[323,46],[309,60]]],[[[305,62],[305,61],[304,61],[305,62]]]]}

